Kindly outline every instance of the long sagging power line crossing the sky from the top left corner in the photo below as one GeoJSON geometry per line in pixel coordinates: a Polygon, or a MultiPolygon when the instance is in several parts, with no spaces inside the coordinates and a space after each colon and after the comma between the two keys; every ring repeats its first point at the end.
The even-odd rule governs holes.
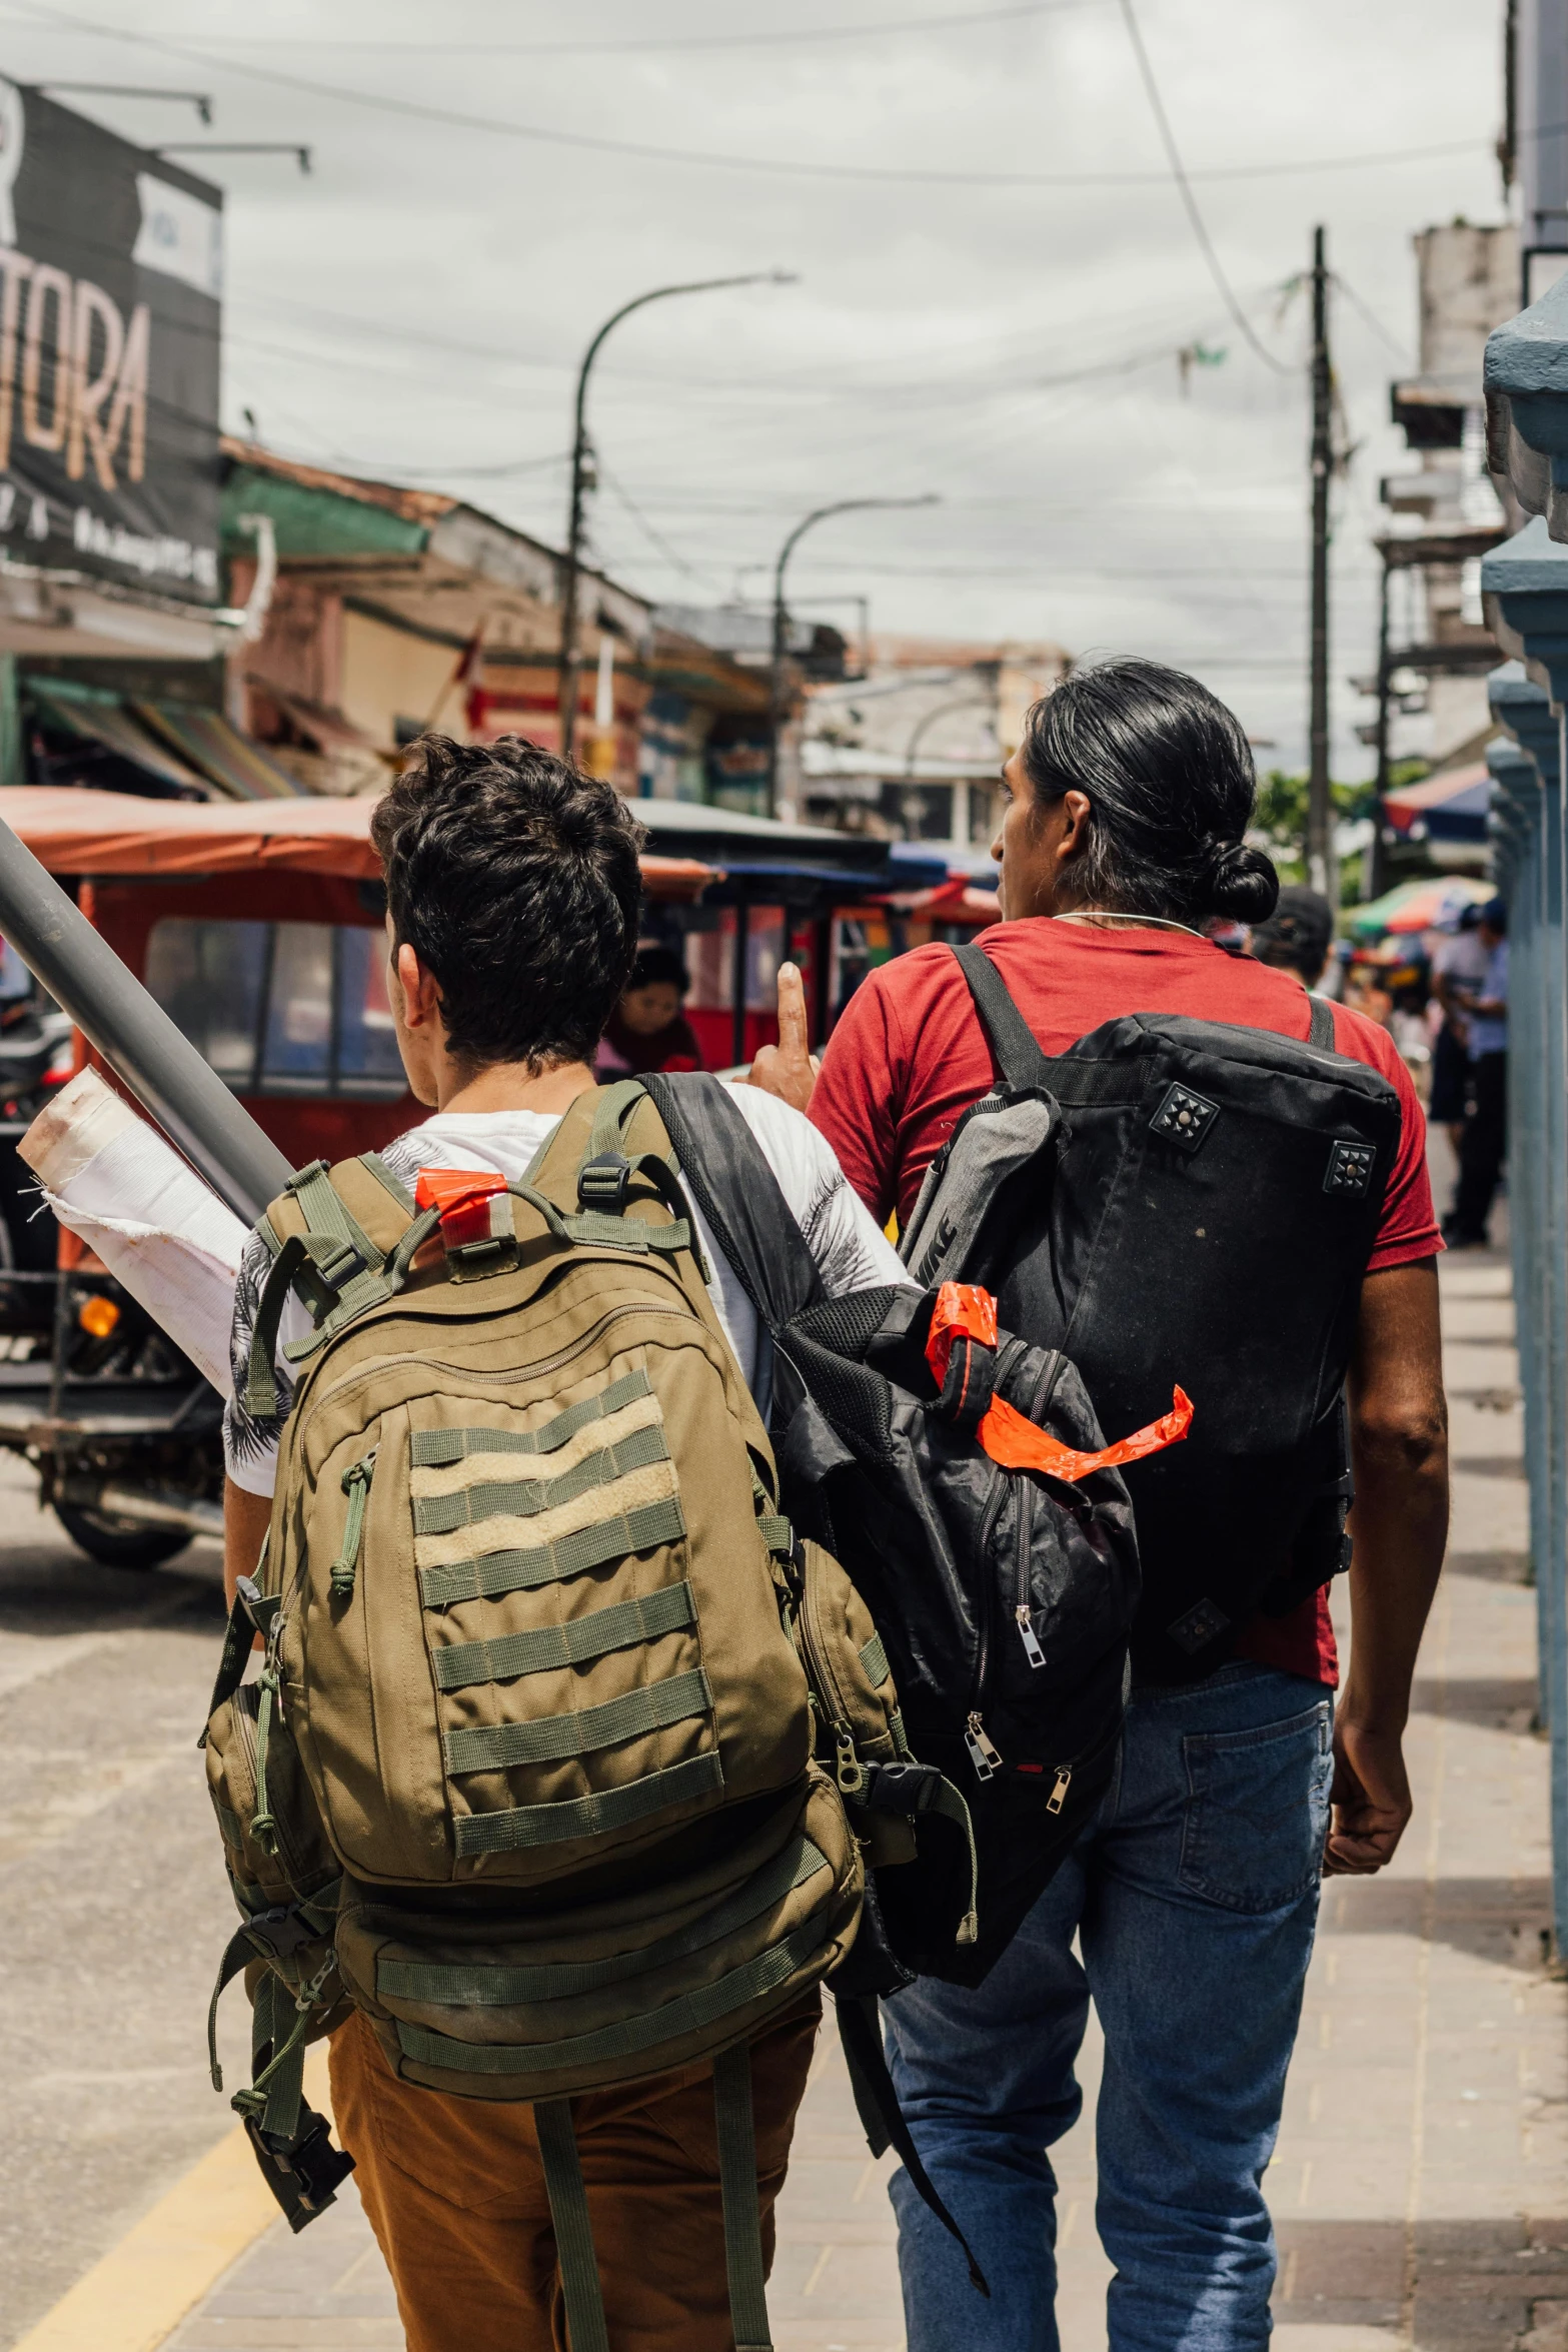
{"type": "MultiPolygon", "coordinates": [[[[926,172],[907,165],[851,165],[851,162],[799,162],[785,155],[722,155],[701,148],[665,148],[651,146],[639,139],[602,139],[590,132],[564,132],[545,127],[538,122],[503,122],[496,115],[470,115],[451,106],[425,106],[418,99],[395,99],[371,89],[346,89],[339,82],[315,82],[303,73],[282,73],[277,66],[254,66],[240,59],[214,56],[212,49],[193,49],[186,42],[162,40],[153,33],[127,33],[120,26],[96,24],[87,16],[73,16],[66,9],[45,7],[42,0],[19,0],[28,19],[45,24],[68,26],[78,33],[94,33],[101,40],[122,40],[136,47],[158,49],[162,56],[181,56],[190,64],[216,66],[221,73],[237,73],[254,82],[270,82],[280,89],[299,89],[306,96],[334,99],[341,106],[364,106],[374,113],[400,115],[411,122],[440,122],[449,129],[487,132],[496,139],[522,139],[538,146],[574,148],[588,155],[632,155],[639,162],[672,162],[689,165],[708,172],[750,172],[762,176],[783,179],[820,179],[820,181],[858,181],[870,186],[926,186],[926,188],[1157,188],[1166,179],[1164,172],[926,172]]],[[[1128,0],[1121,0],[1126,9],[1128,0]]],[[[1154,94],[1157,96],[1157,94],[1154,94]]],[[[1164,122],[1164,111],[1161,111],[1164,122]]],[[[1194,214],[1190,179],[1220,181],[1220,179],[1276,179],[1293,172],[1354,172],[1366,167],[1382,167],[1396,162],[1432,160],[1439,155],[1469,155],[1488,148],[1483,139],[1455,139],[1439,146],[1425,148],[1392,148],[1373,155],[1319,155],[1302,158],[1295,162],[1255,162],[1255,165],[1211,165],[1199,172],[1182,172],[1178,165],[1178,179],[1182,186],[1182,198],[1194,214]]],[[[1199,240],[1208,247],[1208,235],[1201,221],[1194,219],[1199,240]]],[[[1218,270],[1218,261],[1211,259],[1218,270]]],[[[1222,285],[1222,280],[1218,280],[1222,285]]],[[[1227,292],[1227,289],[1225,289],[1227,292]]],[[[1227,292],[1227,303],[1229,303],[1227,292]]],[[[1232,315],[1237,315],[1232,310],[1232,315]]],[[[1251,327],[1241,320],[1241,332],[1255,343],[1251,327]]],[[[1262,343],[1255,343],[1262,350],[1262,343]]],[[[1267,353],[1265,353],[1267,358],[1267,353]]],[[[1276,360],[1269,360],[1276,367],[1276,360]]]]}

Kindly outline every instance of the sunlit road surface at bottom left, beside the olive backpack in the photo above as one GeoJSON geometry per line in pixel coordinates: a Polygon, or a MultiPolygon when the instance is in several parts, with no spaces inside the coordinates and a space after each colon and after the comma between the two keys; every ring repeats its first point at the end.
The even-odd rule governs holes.
{"type": "Polygon", "coordinates": [[[219,1555],[99,1569],[33,1489],[0,1456],[0,2345],[230,2122],[202,2016],[233,1903],[195,1752],[219,1555]]]}

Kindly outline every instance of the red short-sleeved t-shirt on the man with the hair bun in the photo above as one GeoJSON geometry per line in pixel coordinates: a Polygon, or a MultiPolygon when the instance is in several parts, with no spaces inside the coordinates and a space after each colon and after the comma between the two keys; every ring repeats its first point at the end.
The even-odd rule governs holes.
{"type": "MultiPolygon", "coordinates": [[[[1307,990],[1288,974],[1227,955],[1206,938],[1079,922],[999,922],[980,946],[1046,1054],[1065,1054],[1121,1014],[1187,1014],[1307,1037],[1307,990]]],[[[1382,1197],[1368,1272],[1434,1256],[1427,1129],[1394,1040],[1345,1004],[1333,1009],[1340,1054],[1387,1077],[1401,1108],[1399,1157],[1382,1197]]],[[[952,953],[914,948],[872,971],[823,1054],[811,1117],[879,1223],[914,1207],[926,1167],[957,1120],[997,1082],[990,1044],[952,953]]],[[[1319,1592],[1284,1618],[1253,1618],[1237,1653],[1288,1675],[1338,1684],[1340,1665],[1319,1592]]]]}

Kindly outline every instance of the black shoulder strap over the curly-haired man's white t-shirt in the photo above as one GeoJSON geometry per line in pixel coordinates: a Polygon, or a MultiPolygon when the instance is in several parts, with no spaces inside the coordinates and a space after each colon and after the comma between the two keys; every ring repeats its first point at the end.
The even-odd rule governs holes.
{"type": "Polygon", "coordinates": [[[642,1082],[679,1160],[682,1183],[769,1331],[820,1305],[823,1277],[766,1152],[708,1070],[642,1082]]]}

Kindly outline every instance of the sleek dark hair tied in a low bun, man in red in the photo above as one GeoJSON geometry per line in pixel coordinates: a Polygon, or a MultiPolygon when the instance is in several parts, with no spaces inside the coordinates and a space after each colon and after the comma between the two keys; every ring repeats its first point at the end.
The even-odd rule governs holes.
{"type": "Polygon", "coordinates": [[[1159,661],[1103,661],[1034,703],[1020,746],[1041,802],[1088,795],[1084,906],[1199,924],[1262,922],[1279,875],[1241,835],[1258,776],[1241,722],[1159,661]]]}

